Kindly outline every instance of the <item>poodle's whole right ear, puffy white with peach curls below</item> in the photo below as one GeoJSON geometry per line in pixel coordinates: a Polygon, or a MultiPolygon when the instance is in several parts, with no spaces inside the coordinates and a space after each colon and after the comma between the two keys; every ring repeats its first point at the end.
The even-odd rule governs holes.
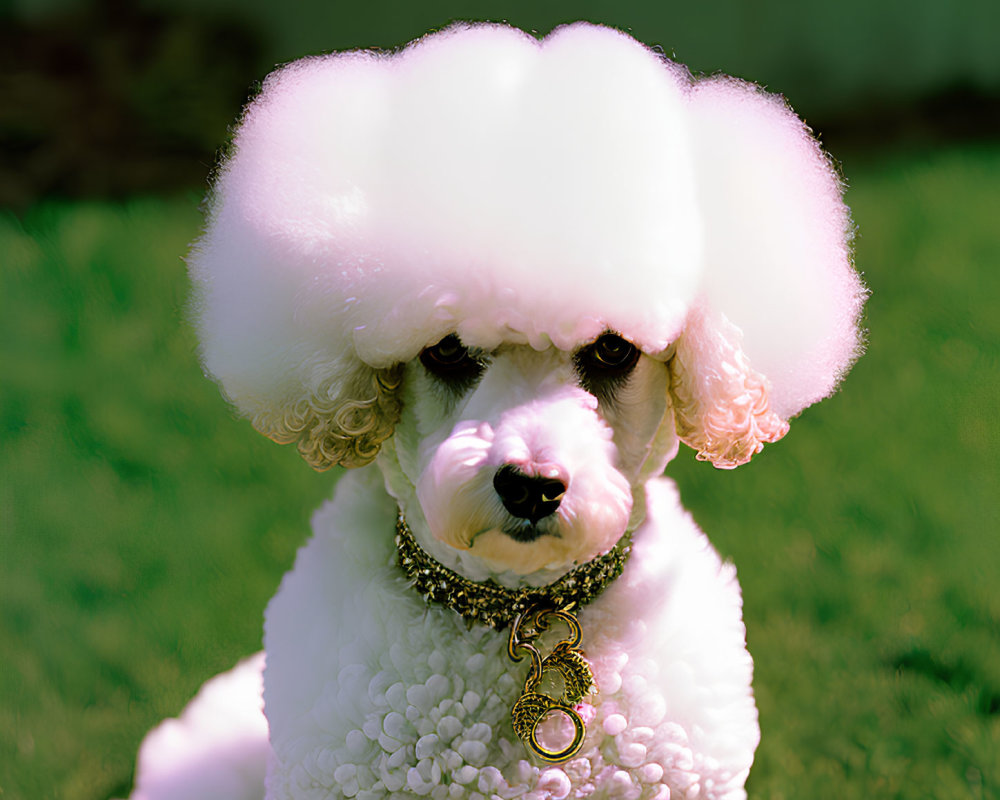
{"type": "Polygon", "coordinates": [[[731,468],[833,392],[861,353],[866,290],[840,178],[784,100],[715,78],[690,103],[703,279],[671,393],[682,441],[731,468]]]}

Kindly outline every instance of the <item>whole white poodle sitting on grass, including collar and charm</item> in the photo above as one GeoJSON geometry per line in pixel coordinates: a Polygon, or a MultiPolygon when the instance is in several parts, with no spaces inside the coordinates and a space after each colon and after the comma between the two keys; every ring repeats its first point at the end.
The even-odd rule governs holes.
{"type": "Polygon", "coordinates": [[[660,475],[748,461],[857,356],[840,189],[780,98],[607,28],[272,75],[190,261],[203,357],[358,469],[268,608],[266,722],[258,657],[133,797],[744,797],[735,569],[660,475]]]}

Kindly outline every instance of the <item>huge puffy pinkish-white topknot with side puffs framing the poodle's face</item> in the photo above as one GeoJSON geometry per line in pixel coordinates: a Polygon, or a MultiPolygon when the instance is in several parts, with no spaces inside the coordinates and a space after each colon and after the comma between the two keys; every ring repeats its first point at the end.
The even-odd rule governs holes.
{"type": "Polygon", "coordinates": [[[722,320],[787,420],[858,353],[849,232],[835,172],[780,99],[692,81],[609,28],[459,25],[270,76],[190,267],[208,371],[322,467],[388,435],[351,412],[380,431],[356,446],[343,404],[391,429],[394,365],[453,331],[569,349],[610,329],[666,357],[682,335],[678,352],[704,351],[696,329],[717,338],[684,333],[693,313],[722,320]]]}

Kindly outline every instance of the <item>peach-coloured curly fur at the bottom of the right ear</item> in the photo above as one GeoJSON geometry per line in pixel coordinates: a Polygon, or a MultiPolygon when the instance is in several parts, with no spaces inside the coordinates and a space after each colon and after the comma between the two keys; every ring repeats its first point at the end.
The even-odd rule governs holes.
{"type": "Polygon", "coordinates": [[[776,442],[788,423],[771,410],[766,377],[740,347],[739,329],[722,314],[696,312],[670,361],[677,435],[700,461],[733,469],[776,442]]]}

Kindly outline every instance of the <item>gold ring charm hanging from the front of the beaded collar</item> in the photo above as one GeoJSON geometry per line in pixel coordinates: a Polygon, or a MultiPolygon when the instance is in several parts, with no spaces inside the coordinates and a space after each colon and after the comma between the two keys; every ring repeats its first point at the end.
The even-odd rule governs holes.
{"type": "Polygon", "coordinates": [[[522,651],[531,656],[531,668],[524,681],[524,689],[511,709],[514,732],[532,753],[549,764],[559,764],[575,756],[583,746],[587,732],[583,718],[574,705],[596,691],[597,687],[594,672],[579,649],[582,638],[580,623],[568,608],[533,606],[514,621],[507,641],[507,655],[512,660],[524,658],[522,651]],[[542,658],[534,641],[549,629],[551,619],[563,622],[569,629],[569,637],[561,639],[552,652],[542,658]],[[561,681],[559,697],[552,697],[541,690],[542,679],[553,673],[555,688],[559,688],[561,681]],[[573,738],[562,750],[548,750],[538,741],[538,726],[550,711],[565,714],[573,723],[573,738]]]}

